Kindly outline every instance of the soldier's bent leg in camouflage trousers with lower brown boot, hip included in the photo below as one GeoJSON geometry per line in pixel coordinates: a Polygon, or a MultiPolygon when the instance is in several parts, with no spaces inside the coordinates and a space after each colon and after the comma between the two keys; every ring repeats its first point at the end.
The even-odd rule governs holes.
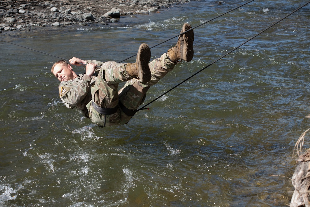
{"type": "Polygon", "coordinates": [[[133,79],[132,76],[134,75],[137,78],[149,80],[151,76],[148,66],[150,56],[148,45],[141,44],[137,54],[137,61],[130,64],[130,67],[128,67],[128,64],[116,62],[103,63],[97,80],[91,87],[92,102],[87,106],[90,119],[95,124],[99,126],[119,124],[118,84],[133,79]]]}

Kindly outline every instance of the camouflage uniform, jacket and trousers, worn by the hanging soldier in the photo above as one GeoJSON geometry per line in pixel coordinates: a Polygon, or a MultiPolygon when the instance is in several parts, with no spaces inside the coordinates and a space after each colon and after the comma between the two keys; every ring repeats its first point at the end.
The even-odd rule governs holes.
{"type": "Polygon", "coordinates": [[[126,124],[143,103],[148,88],[158,83],[176,65],[169,60],[167,53],[163,54],[149,63],[152,78],[143,83],[127,74],[126,64],[94,60],[86,62],[101,66],[98,77],[79,74],[73,80],[61,82],[60,98],[69,109],[79,108],[84,116],[100,127],[126,124]],[[117,92],[118,84],[122,82],[126,84],[117,92]],[[98,106],[113,109],[113,114],[100,114],[95,110],[98,106]]]}

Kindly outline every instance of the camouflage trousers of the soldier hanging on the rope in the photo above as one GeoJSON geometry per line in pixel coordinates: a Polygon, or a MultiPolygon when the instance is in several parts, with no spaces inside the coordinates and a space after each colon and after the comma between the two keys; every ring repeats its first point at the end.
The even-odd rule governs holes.
{"type": "Polygon", "coordinates": [[[140,79],[129,76],[126,72],[126,64],[116,62],[105,62],[101,66],[95,84],[91,87],[92,101],[102,108],[116,108],[111,115],[104,115],[97,112],[92,101],[86,107],[91,121],[100,127],[110,127],[126,124],[132,117],[127,115],[119,106],[119,101],[129,110],[136,110],[143,103],[146,92],[150,86],[158,83],[176,63],[169,60],[167,53],[149,62],[152,78],[144,83],[140,79]],[[118,84],[126,82],[118,91],[118,84]]]}

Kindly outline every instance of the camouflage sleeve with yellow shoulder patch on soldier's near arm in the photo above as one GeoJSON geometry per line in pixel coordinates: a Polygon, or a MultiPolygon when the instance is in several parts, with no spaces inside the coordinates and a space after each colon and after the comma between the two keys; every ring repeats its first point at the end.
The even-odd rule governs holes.
{"type": "Polygon", "coordinates": [[[69,109],[74,108],[88,93],[91,78],[84,74],[81,79],[63,81],[59,85],[59,96],[69,109]]]}

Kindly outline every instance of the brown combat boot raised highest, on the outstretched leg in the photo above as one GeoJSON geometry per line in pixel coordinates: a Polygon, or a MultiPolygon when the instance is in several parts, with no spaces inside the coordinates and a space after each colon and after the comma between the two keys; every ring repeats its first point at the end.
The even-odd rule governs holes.
{"type": "MultiPolygon", "coordinates": [[[[182,27],[181,34],[185,31],[192,29],[192,26],[185,23],[182,27]]],[[[175,47],[168,50],[168,57],[172,62],[179,62],[179,60],[184,61],[191,61],[194,56],[194,49],[193,49],[193,42],[194,42],[194,31],[193,29],[179,35],[178,42],[176,43],[175,47]]]]}

